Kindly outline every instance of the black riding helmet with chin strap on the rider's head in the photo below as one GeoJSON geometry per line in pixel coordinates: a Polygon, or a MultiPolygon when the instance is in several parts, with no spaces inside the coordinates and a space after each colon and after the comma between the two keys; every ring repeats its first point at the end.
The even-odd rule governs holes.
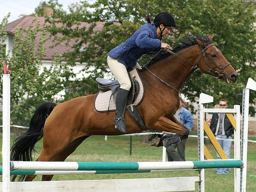
{"type": "Polygon", "coordinates": [[[160,32],[161,32],[160,37],[163,36],[163,31],[166,28],[166,26],[176,27],[176,23],[174,21],[174,18],[168,12],[161,12],[161,13],[157,14],[155,19],[154,19],[154,24],[156,26],[158,26],[159,29],[160,29],[160,32]],[[164,29],[163,30],[161,30],[161,28],[160,28],[161,24],[164,25],[164,29]]]}

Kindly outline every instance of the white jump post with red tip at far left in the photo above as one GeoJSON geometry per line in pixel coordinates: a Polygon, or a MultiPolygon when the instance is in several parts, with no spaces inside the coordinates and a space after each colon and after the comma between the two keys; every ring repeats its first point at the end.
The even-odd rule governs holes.
{"type": "Polygon", "coordinates": [[[11,77],[4,65],[3,74],[3,144],[2,144],[2,156],[3,156],[3,186],[4,192],[10,192],[10,91],[11,91],[11,77]]]}

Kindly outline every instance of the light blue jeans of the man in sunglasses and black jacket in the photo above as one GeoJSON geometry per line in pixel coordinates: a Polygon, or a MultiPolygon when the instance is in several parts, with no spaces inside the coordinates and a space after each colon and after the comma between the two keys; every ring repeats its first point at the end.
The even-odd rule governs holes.
{"type": "MultiPolygon", "coordinates": [[[[227,138],[226,135],[216,135],[216,138],[222,138],[222,139],[232,139],[231,136],[229,136],[227,138]]],[[[220,143],[221,148],[223,148],[226,156],[228,157],[228,159],[230,158],[230,149],[231,149],[231,145],[232,145],[232,141],[230,140],[218,140],[218,142],[220,143]]],[[[219,154],[217,153],[217,157],[218,159],[220,159],[219,154]]],[[[217,174],[228,174],[228,168],[217,168],[217,174]]]]}

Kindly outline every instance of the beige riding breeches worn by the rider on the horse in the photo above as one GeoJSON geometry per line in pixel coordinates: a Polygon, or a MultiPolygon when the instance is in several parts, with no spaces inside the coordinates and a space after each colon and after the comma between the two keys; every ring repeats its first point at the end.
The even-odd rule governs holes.
{"type": "MultiPolygon", "coordinates": [[[[116,80],[120,84],[121,89],[130,90],[131,88],[131,81],[128,76],[128,72],[124,64],[117,61],[112,57],[107,58],[108,67],[110,68],[111,72],[115,76],[116,80]]],[[[134,68],[141,69],[140,65],[137,63],[134,68]]]]}

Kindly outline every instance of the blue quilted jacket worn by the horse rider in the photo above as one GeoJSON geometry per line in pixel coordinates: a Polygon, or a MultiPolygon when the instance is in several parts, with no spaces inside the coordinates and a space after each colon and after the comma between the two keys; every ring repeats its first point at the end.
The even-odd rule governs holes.
{"type": "Polygon", "coordinates": [[[161,47],[162,38],[157,39],[156,26],[146,23],[142,25],[129,39],[112,49],[108,55],[126,68],[133,68],[141,55],[156,51],[161,47]]]}

